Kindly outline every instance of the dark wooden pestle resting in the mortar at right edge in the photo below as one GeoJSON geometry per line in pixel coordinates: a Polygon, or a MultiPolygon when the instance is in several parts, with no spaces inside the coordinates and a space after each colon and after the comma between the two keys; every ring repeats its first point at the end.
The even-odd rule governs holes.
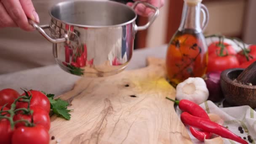
{"type": "Polygon", "coordinates": [[[237,77],[237,81],[245,84],[251,83],[252,85],[256,85],[256,61],[240,73],[237,77]]]}

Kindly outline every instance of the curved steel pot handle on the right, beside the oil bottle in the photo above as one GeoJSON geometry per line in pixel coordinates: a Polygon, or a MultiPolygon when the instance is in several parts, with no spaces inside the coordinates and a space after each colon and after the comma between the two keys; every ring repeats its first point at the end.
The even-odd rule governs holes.
{"type": "Polygon", "coordinates": [[[157,7],[155,7],[154,5],[151,5],[151,4],[149,4],[149,3],[145,3],[145,2],[141,2],[141,1],[136,1],[136,2],[132,5],[132,8],[135,9],[136,6],[137,6],[139,3],[143,3],[143,4],[146,5],[147,7],[154,9],[154,10],[155,10],[155,13],[154,13],[154,15],[149,19],[149,21],[147,22],[147,24],[145,24],[144,26],[137,26],[137,25],[135,25],[135,31],[147,29],[147,28],[155,21],[155,19],[157,18],[158,14],[159,14],[159,9],[158,9],[157,7]]]}

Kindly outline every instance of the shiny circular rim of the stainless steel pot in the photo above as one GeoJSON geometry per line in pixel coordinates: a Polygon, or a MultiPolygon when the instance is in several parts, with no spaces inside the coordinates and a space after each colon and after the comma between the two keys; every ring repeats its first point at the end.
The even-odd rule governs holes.
{"type": "Polygon", "coordinates": [[[60,2],[60,3],[54,4],[54,5],[50,8],[49,14],[50,14],[51,18],[53,18],[53,19],[55,19],[56,21],[59,21],[59,22],[61,22],[61,23],[69,24],[69,25],[71,25],[71,26],[89,27],[89,28],[120,27],[120,26],[125,26],[125,25],[127,25],[127,24],[130,24],[130,23],[132,23],[133,21],[135,21],[135,20],[137,19],[137,13],[134,11],[133,8],[131,8],[130,6],[125,5],[125,4],[123,4],[123,3],[118,3],[118,2],[110,1],[110,0],[67,0],[67,1],[63,1],[63,2],[60,2]],[[107,3],[116,3],[117,5],[122,5],[122,6],[125,6],[125,7],[129,8],[131,11],[133,11],[133,13],[135,14],[135,16],[134,16],[134,18],[131,19],[130,21],[127,21],[127,22],[122,23],[122,24],[106,25],[106,26],[92,26],[92,25],[73,24],[73,23],[70,23],[70,22],[66,22],[66,21],[57,19],[56,17],[54,17],[54,16],[51,14],[51,10],[52,10],[53,8],[55,8],[57,5],[64,4],[64,3],[74,3],[74,2],[76,2],[76,1],[101,1],[101,2],[107,2],[107,3]]]}

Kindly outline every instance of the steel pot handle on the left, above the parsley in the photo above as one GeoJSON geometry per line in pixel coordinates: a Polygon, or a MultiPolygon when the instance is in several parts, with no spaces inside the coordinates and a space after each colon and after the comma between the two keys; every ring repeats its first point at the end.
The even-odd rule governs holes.
{"type": "Polygon", "coordinates": [[[45,37],[51,43],[63,43],[63,42],[69,43],[69,37],[67,34],[65,34],[63,38],[53,39],[43,30],[43,29],[49,29],[50,28],[49,25],[39,26],[31,19],[28,19],[28,21],[29,21],[29,24],[31,24],[33,27],[35,27],[37,29],[37,31],[40,32],[40,34],[43,35],[43,37],[45,37]]]}

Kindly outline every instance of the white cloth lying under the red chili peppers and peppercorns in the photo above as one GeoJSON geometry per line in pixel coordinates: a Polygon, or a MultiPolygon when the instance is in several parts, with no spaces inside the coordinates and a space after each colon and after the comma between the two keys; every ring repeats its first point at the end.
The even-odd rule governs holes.
{"type": "MultiPolygon", "coordinates": [[[[249,106],[240,106],[240,107],[226,107],[223,108],[222,106],[218,107],[212,101],[205,101],[204,103],[200,104],[208,114],[213,113],[219,115],[221,119],[224,120],[223,126],[228,126],[228,129],[235,133],[238,136],[246,137],[245,141],[248,141],[248,135],[251,136],[254,140],[256,140],[256,112],[249,106]],[[240,133],[238,127],[241,126],[243,128],[244,133],[240,133]],[[245,131],[248,130],[246,133],[245,131]]],[[[181,110],[179,107],[176,109],[177,114],[181,115],[181,110]]],[[[203,142],[197,140],[189,131],[188,126],[187,130],[189,132],[189,136],[194,144],[203,144],[203,142]]],[[[224,139],[224,144],[239,144],[235,141],[224,139]]]]}

